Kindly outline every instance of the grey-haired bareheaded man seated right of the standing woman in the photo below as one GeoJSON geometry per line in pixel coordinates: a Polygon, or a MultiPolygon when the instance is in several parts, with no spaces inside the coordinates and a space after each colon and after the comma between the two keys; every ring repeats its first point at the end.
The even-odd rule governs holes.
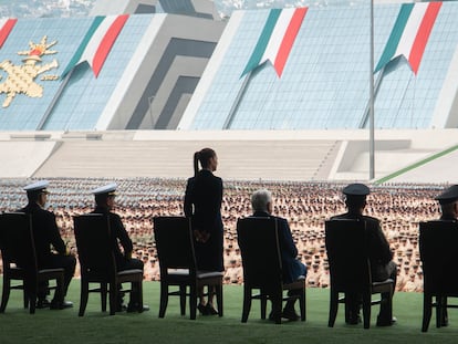
{"type": "MultiPolygon", "coordinates": [[[[291,283],[296,281],[300,277],[305,278],[306,268],[301,263],[298,257],[298,249],[294,244],[288,221],[280,217],[274,217],[272,212],[272,195],[269,190],[258,190],[251,196],[251,206],[253,209],[253,217],[270,217],[275,218],[278,223],[279,244],[281,252],[281,260],[283,267],[283,283],[291,283]]],[[[292,295],[294,291],[289,291],[292,295]]],[[[282,316],[292,321],[299,320],[298,313],[294,310],[294,301],[288,301],[282,316]]],[[[271,313],[269,319],[273,319],[271,313]]]]}

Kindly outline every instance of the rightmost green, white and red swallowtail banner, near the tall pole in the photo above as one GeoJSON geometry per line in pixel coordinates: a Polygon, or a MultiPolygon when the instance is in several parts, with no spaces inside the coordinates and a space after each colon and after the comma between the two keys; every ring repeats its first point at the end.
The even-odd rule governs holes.
{"type": "Polygon", "coordinates": [[[417,74],[441,2],[404,3],[374,73],[391,61],[404,56],[417,74]]]}

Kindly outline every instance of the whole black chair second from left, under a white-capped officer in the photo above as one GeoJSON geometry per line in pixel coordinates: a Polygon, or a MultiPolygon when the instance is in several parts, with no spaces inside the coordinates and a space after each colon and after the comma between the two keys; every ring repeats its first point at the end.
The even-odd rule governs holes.
{"type": "Polygon", "coordinates": [[[108,217],[87,213],[73,218],[77,254],[81,265],[81,303],[79,315],[83,316],[90,293],[101,293],[102,311],[106,311],[110,295],[110,315],[114,315],[119,292],[136,289],[139,295],[138,311],[143,311],[143,271],[139,269],[117,271],[113,253],[108,217]],[[95,283],[98,286],[91,286],[95,283]],[[123,283],[131,289],[121,290],[123,283]]]}

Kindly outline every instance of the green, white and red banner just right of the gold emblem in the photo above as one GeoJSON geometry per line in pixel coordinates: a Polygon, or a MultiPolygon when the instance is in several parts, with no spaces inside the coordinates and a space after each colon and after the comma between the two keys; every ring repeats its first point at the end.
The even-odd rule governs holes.
{"type": "Polygon", "coordinates": [[[84,61],[87,61],[95,77],[97,77],[106,56],[110,54],[110,50],[127,19],[128,14],[95,17],[61,77],[64,77],[74,66],[84,61]]]}

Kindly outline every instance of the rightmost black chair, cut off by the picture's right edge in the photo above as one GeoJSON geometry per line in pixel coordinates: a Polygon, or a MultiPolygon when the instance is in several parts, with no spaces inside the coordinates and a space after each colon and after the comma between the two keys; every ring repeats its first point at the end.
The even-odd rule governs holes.
{"type": "Polygon", "coordinates": [[[458,277],[455,273],[458,263],[458,222],[427,221],[419,223],[419,252],[423,269],[423,324],[427,332],[433,307],[436,307],[436,327],[443,326],[441,320],[448,307],[447,298],[458,298],[458,277]],[[436,298],[436,302],[433,302],[436,298]]]}

